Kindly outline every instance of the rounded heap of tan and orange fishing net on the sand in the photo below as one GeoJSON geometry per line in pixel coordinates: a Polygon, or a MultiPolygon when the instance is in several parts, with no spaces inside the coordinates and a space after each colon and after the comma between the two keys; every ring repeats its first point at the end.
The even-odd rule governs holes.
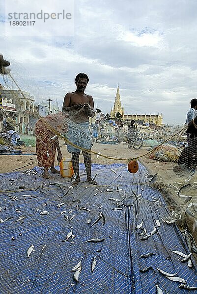
{"type": "Polygon", "coordinates": [[[149,158],[156,159],[164,162],[177,162],[182,148],[175,147],[173,145],[162,145],[156,149],[154,149],[149,158]]]}

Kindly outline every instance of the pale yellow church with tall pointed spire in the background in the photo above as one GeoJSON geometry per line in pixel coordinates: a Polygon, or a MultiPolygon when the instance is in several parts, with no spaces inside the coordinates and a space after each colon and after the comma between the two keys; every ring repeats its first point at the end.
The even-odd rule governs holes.
{"type": "Polygon", "coordinates": [[[163,115],[162,114],[124,114],[124,105],[121,105],[120,99],[120,92],[119,92],[119,85],[117,87],[117,92],[115,96],[114,106],[111,110],[111,116],[115,116],[115,113],[119,112],[122,116],[122,120],[126,125],[130,124],[132,120],[139,122],[140,124],[144,124],[147,126],[156,125],[162,126],[163,125],[163,115]]]}

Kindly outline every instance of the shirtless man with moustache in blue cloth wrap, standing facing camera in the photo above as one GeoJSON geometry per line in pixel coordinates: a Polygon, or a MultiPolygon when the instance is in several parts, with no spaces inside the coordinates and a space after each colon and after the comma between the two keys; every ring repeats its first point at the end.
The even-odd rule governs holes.
{"type": "Polygon", "coordinates": [[[63,102],[63,112],[68,113],[69,123],[66,137],[68,139],[67,150],[71,152],[75,180],[72,185],[80,183],[79,175],[79,155],[82,150],[84,156],[84,165],[87,173],[86,181],[97,185],[91,178],[91,154],[92,147],[91,135],[89,130],[89,117],[94,117],[94,101],[90,95],[86,95],[84,90],[89,78],[85,73],[79,73],[75,78],[76,91],[67,93],[63,102]],[[80,147],[80,148],[78,148],[80,147]]]}

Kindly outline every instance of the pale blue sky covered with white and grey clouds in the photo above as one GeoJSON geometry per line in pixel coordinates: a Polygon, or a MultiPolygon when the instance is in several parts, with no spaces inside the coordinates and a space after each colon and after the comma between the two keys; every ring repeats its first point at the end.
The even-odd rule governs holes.
{"type": "Polygon", "coordinates": [[[197,98],[196,0],[15,0],[18,11],[25,5],[30,12],[36,2],[38,11],[72,12],[72,23],[49,21],[28,34],[2,30],[9,1],[0,4],[0,52],[36,102],[57,99],[61,107],[84,72],[86,94],[103,113],[113,107],[119,84],[126,114],[162,113],[164,123],[185,123],[197,98]]]}

